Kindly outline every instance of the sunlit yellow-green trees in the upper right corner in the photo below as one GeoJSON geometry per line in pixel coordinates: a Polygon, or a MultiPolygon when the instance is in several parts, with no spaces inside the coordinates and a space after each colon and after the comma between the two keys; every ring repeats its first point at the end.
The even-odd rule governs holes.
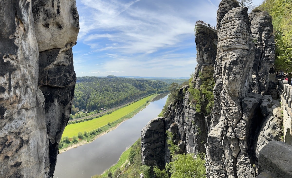
{"type": "Polygon", "coordinates": [[[272,16],[276,70],[292,72],[292,0],[265,0],[258,8],[272,16]]]}

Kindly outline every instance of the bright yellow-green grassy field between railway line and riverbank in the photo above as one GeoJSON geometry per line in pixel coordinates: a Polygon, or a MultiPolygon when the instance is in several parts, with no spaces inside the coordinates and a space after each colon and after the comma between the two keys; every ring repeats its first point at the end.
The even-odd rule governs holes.
{"type": "Polygon", "coordinates": [[[118,109],[112,112],[112,114],[104,114],[102,117],[90,121],[67,125],[62,137],[68,136],[69,138],[72,138],[73,136],[77,136],[78,132],[90,132],[102,126],[106,126],[108,123],[116,121],[120,118],[127,118],[129,113],[132,113],[141,106],[146,105],[146,102],[151,100],[154,96],[156,96],[156,94],[145,97],[137,102],[132,103],[131,105],[118,109]]]}

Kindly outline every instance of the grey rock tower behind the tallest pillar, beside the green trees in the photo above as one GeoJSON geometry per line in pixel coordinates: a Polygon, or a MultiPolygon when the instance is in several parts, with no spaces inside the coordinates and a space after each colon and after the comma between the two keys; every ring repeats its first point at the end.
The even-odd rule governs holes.
{"type": "Polygon", "coordinates": [[[267,12],[254,11],[249,14],[249,23],[255,43],[253,63],[253,92],[267,94],[269,70],[274,65],[275,42],[272,18],[267,12]]]}

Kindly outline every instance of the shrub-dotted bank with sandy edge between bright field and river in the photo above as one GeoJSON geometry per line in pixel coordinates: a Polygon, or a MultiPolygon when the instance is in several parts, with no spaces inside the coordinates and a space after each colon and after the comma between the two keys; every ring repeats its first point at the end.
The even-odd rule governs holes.
{"type": "MultiPolygon", "coordinates": [[[[97,129],[94,129],[90,132],[84,132],[84,134],[82,133],[78,133],[78,135],[81,134],[81,136],[78,138],[77,136],[73,136],[72,138],[69,138],[67,135],[67,139],[69,140],[70,143],[66,143],[66,136],[63,133],[63,138],[60,141],[60,146],[59,146],[59,153],[65,152],[69,149],[72,148],[76,148],[77,146],[81,146],[87,143],[91,143],[92,141],[94,141],[96,138],[106,134],[107,132],[114,130],[117,128],[117,126],[119,126],[122,122],[124,122],[125,120],[133,117],[135,114],[137,114],[138,112],[140,112],[142,109],[144,109],[147,105],[149,105],[149,103],[154,100],[154,98],[159,97],[159,95],[163,95],[163,94],[154,94],[148,97],[146,97],[145,102],[142,103],[138,108],[135,108],[135,110],[131,110],[130,112],[126,113],[125,115],[123,115],[123,117],[114,120],[112,122],[108,122],[107,125],[102,125],[97,129]],[[74,143],[72,143],[74,142],[74,143]]],[[[139,101],[138,101],[139,102],[139,101]]],[[[119,112],[119,109],[114,111],[114,112],[119,112]]],[[[112,114],[115,114],[115,113],[112,114]]],[[[98,118],[98,119],[102,119],[102,118],[98,118]]],[[[94,119],[93,119],[94,120],[94,119]]],[[[89,121],[87,124],[91,124],[89,123],[89,121]]],[[[84,122],[86,124],[86,122],[84,122]]],[[[107,122],[107,121],[106,121],[107,122]]],[[[78,123],[80,124],[80,123],[78,123]]],[[[71,124],[72,125],[72,124],[71,124]]],[[[69,125],[70,126],[70,125],[69,125]]],[[[65,128],[66,129],[66,128],[65,128]]],[[[68,141],[67,141],[68,142],[68,141]]]]}

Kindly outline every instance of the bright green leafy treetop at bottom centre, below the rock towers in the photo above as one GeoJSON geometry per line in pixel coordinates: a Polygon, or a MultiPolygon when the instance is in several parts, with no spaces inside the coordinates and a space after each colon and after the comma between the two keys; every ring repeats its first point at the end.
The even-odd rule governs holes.
{"type": "Polygon", "coordinates": [[[191,154],[175,155],[172,162],[165,168],[171,173],[171,178],[206,178],[205,160],[193,158],[191,154]]]}

